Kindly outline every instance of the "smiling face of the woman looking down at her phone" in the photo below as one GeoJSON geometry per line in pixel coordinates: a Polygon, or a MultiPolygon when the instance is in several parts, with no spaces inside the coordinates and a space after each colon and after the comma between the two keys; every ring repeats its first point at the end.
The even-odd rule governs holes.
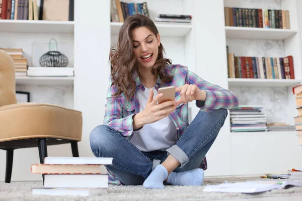
{"type": "Polygon", "coordinates": [[[138,27],[132,30],[131,37],[138,68],[152,69],[159,54],[160,35],[156,37],[148,28],[138,27]]]}

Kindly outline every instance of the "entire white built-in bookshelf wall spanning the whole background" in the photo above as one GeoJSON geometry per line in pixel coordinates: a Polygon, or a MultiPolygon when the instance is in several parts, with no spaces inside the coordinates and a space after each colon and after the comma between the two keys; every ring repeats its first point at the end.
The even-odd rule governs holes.
{"type": "MultiPolygon", "coordinates": [[[[201,78],[234,91],[242,103],[268,103],[270,105],[266,106],[269,112],[273,112],[273,116],[293,121],[295,108],[290,87],[302,80],[300,61],[302,18],[298,15],[302,5],[299,1],[124,0],[123,2],[147,2],[152,20],[159,14],[192,15],[192,25],[157,24],[166,57],[172,59],[174,64],[188,66],[201,78]],[[291,29],[225,27],[224,6],[288,9],[291,29]],[[295,80],[228,79],[226,45],[230,46],[230,52],[243,56],[293,55],[295,80]]],[[[0,47],[21,47],[29,61],[33,42],[49,42],[51,38],[55,38],[58,43],[73,44],[75,73],[73,79],[17,78],[16,82],[18,90],[31,92],[33,102],[48,100],[48,103],[83,113],[83,136],[82,142],[79,143],[80,156],[83,157],[93,157],[89,135],[96,126],[103,124],[110,75],[109,50],[117,40],[120,27],[121,23],[110,22],[110,0],[75,1],[74,22],[0,21],[0,47]],[[53,85],[54,82],[60,85],[53,85]]],[[[195,103],[189,106],[191,116],[195,117],[198,112],[195,103]]],[[[228,118],[206,154],[208,169],[205,176],[262,174],[301,167],[301,150],[297,147],[295,135],[295,132],[231,133],[228,118]]],[[[48,155],[71,156],[70,146],[62,146],[49,146],[48,155]]],[[[0,158],[5,158],[5,152],[1,150],[0,158]]],[[[36,149],[14,152],[12,181],[41,180],[40,175],[33,175],[29,171],[33,163],[39,163],[36,149]],[[22,160],[24,158],[27,160],[22,160]],[[17,168],[21,166],[25,168],[17,168]]],[[[2,170],[1,181],[4,180],[4,174],[5,171],[2,170]]]]}

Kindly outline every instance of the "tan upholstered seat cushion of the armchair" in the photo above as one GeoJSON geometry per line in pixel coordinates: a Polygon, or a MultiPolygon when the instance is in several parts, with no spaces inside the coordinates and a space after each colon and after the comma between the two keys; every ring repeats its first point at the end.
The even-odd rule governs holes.
{"type": "Polygon", "coordinates": [[[0,107],[0,142],[29,138],[81,141],[82,113],[56,105],[11,104],[0,107]]]}

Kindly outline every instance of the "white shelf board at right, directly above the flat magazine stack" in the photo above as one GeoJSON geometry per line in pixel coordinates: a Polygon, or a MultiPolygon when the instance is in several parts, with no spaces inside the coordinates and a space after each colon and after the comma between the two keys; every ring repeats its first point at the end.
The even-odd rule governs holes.
{"type": "Polygon", "coordinates": [[[302,82],[297,79],[248,79],[228,78],[229,86],[250,86],[250,87],[287,87],[302,82]]]}

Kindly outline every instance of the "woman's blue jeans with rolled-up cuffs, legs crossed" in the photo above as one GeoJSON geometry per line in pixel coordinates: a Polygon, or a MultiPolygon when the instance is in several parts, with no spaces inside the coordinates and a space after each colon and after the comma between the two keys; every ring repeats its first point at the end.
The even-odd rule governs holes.
{"type": "MultiPolygon", "coordinates": [[[[169,154],[181,165],[174,172],[199,168],[228,116],[225,109],[211,113],[200,111],[177,141],[166,151],[142,152],[118,131],[105,125],[97,126],[90,134],[90,146],[96,157],[112,157],[106,168],[124,185],[141,185],[156,165],[169,154]]],[[[135,135],[135,134],[134,134],[135,135]]]]}

